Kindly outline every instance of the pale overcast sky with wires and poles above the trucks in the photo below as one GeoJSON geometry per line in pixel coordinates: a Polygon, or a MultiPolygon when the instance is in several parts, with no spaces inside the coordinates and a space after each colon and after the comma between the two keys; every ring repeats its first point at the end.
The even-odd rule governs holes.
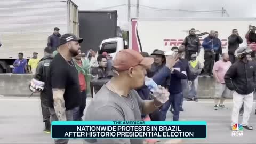
{"type": "MultiPolygon", "coordinates": [[[[73,0],[79,10],[117,10],[118,24],[125,27],[127,22],[127,0],[73,0]],[[106,7],[117,6],[109,9],[106,7]]],[[[136,0],[131,0],[131,17],[135,17],[136,0]]],[[[181,9],[190,11],[214,11],[221,10],[224,7],[230,17],[256,17],[256,2],[254,0],[139,0],[141,5],[139,8],[139,17],[221,17],[221,12],[215,13],[200,13],[200,12],[183,12],[183,11],[166,11],[160,9],[181,9]]],[[[225,14],[227,17],[227,15],[225,14]]]]}

